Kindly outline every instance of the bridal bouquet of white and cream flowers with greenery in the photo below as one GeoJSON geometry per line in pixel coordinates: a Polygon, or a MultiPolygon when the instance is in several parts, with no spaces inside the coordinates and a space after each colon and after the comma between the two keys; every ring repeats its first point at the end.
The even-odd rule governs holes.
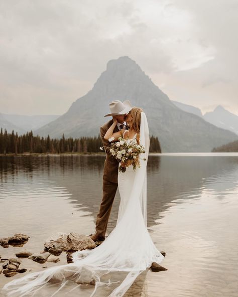
{"type": "MultiPolygon", "coordinates": [[[[114,137],[109,138],[110,142],[112,140],[114,140],[114,137]]],[[[120,172],[126,172],[127,167],[130,165],[133,165],[134,170],[140,167],[139,155],[145,153],[145,148],[143,145],[138,144],[136,139],[124,139],[123,137],[119,137],[118,141],[111,142],[110,147],[109,152],[111,156],[121,161],[119,167],[120,172]],[[122,166],[122,163],[124,166],[122,166]]]]}

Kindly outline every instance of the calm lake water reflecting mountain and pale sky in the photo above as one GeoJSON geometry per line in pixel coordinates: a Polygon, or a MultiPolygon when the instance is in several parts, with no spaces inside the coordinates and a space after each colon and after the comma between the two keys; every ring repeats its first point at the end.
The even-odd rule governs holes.
{"type": "MultiPolygon", "coordinates": [[[[2,257],[43,251],[58,231],[93,233],[103,165],[104,156],[0,157],[0,237],[30,236],[24,247],[0,246],[2,257]]],[[[142,273],[125,296],[237,296],[238,153],[150,156],[147,201],[148,229],[168,270],[142,273]]],[[[119,203],[117,193],[108,233],[119,203]]],[[[65,263],[62,253],[57,264],[23,259],[21,267],[65,263]]],[[[0,274],[0,287],[24,274],[0,274]]]]}

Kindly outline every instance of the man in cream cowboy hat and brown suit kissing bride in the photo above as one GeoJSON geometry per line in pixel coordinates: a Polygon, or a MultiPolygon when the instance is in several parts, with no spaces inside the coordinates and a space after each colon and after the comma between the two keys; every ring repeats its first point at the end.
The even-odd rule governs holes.
{"type": "MultiPolygon", "coordinates": [[[[127,113],[132,109],[132,107],[133,106],[131,105],[131,102],[129,100],[126,100],[124,102],[115,100],[109,104],[111,112],[106,114],[105,116],[115,116],[115,118],[117,119],[117,123],[113,130],[113,133],[125,128],[125,117],[127,113]]],[[[109,127],[112,125],[112,123],[113,120],[111,119],[100,127],[102,144],[106,152],[106,160],[103,170],[103,194],[100,209],[96,219],[96,230],[93,235],[89,235],[95,242],[105,240],[106,227],[117,189],[118,161],[109,155],[110,142],[104,139],[104,135],[109,127]]]]}

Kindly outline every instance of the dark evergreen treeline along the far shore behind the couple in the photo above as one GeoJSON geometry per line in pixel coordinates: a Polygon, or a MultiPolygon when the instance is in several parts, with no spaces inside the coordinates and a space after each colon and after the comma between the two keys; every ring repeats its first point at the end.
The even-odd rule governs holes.
{"type": "MultiPolygon", "coordinates": [[[[8,133],[7,130],[0,132],[0,154],[23,154],[23,153],[98,153],[101,152],[101,137],[80,137],[80,138],[50,138],[34,136],[33,132],[23,135],[8,133]]],[[[150,152],[160,153],[160,143],[158,137],[151,137],[150,152]]]]}

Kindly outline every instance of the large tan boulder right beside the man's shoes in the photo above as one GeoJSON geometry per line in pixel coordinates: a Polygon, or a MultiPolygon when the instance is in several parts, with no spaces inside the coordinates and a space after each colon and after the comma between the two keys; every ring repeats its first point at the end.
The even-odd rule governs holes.
{"type": "Polygon", "coordinates": [[[95,242],[90,237],[74,232],[68,234],[67,242],[67,251],[93,249],[96,247],[95,242]]]}

